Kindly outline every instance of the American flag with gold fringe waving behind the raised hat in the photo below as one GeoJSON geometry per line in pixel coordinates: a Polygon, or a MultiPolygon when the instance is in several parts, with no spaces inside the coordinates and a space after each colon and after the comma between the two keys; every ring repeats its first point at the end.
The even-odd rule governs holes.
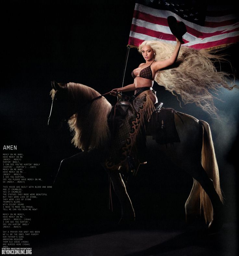
{"type": "Polygon", "coordinates": [[[185,46],[212,49],[239,41],[237,8],[207,6],[203,1],[136,0],[128,44],[138,47],[145,40],[176,43],[167,22],[168,16],[183,21],[187,33],[185,46]]]}

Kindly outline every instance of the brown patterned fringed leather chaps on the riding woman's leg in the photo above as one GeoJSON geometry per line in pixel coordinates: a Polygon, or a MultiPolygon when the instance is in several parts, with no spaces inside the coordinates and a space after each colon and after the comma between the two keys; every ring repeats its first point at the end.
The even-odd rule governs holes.
{"type": "Polygon", "coordinates": [[[124,171],[129,171],[127,158],[130,156],[134,163],[138,164],[137,141],[143,131],[145,122],[149,121],[155,110],[154,104],[149,96],[150,90],[139,94],[129,105],[127,114],[113,138],[110,157],[105,162],[109,170],[117,170],[119,166],[124,171]]]}

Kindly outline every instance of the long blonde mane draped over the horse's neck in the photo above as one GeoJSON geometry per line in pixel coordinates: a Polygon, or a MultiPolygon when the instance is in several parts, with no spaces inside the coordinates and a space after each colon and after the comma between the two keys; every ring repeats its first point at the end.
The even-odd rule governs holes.
{"type": "Polygon", "coordinates": [[[105,97],[89,103],[100,93],[83,84],[68,83],[67,91],[68,96],[79,109],[68,121],[73,132],[72,143],[82,150],[105,149],[110,138],[107,117],[111,104],[105,97]]]}

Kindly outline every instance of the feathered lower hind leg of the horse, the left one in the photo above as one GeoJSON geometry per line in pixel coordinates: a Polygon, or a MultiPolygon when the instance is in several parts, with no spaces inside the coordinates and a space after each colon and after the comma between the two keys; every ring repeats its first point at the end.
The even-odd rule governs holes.
{"type": "Polygon", "coordinates": [[[199,198],[200,198],[200,184],[193,179],[193,187],[190,195],[185,203],[186,221],[191,222],[200,215],[199,198]]]}

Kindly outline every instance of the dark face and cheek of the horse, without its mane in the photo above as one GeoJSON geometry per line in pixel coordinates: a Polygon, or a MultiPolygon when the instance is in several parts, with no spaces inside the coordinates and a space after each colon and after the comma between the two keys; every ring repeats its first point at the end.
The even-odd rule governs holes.
{"type": "Polygon", "coordinates": [[[64,120],[68,120],[72,113],[67,93],[67,85],[60,84],[56,81],[51,82],[52,85],[52,105],[48,118],[48,126],[52,129],[59,129],[64,120]]]}

